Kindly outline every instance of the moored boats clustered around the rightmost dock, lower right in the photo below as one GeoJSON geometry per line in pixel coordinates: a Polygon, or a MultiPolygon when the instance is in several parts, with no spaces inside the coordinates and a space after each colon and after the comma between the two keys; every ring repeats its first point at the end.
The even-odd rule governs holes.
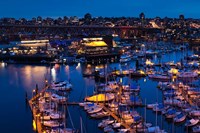
{"type": "Polygon", "coordinates": [[[164,115],[166,119],[172,119],[174,123],[184,123],[186,121],[186,128],[192,128],[195,133],[200,132],[199,105],[192,103],[198,101],[191,101],[192,95],[196,99],[200,93],[191,93],[189,90],[192,87],[184,85],[182,82],[178,84],[159,82],[158,87],[162,89],[163,102],[147,104],[147,108],[164,115]]]}

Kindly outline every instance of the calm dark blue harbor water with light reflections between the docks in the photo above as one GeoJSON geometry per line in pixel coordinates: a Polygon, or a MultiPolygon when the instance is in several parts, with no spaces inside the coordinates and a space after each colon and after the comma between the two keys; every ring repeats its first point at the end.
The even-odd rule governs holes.
{"type": "MultiPolygon", "coordinates": [[[[191,51],[178,51],[166,53],[162,55],[160,61],[154,57],[155,62],[180,61],[186,54],[191,54],[191,51]]],[[[135,66],[135,61],[131,61],[126,66],[120,66],[119,63],[110,63],[110,67],[129,67],[135,66]]],[[[39,90],[44,87],[45,79],[49,81],[70,80],[73,89],[69,94],[69,101],[82,102],[85,96],[93,94],[95,81],[93,77],[85,78],[82,72],[86,69],[94,69],[94,66],[87,64],[74,65],[22,65],[22,64],[1,64],[0,66],[0,131],[2,133],[32,133],[32,113],[29,105],[26,103],[26,94],[28,99],[33,95],[33,89],[36,84],[39,90]]],[[[128,79],[124,77],[123,82],[137,82],[141,86],[140,96],[148,103],[155,103],[162,101],[162,92],[157,88],[157,81],[152,81],[146,78],[128,79]]],[[[144,108],[137,107],[136,110],[145,116],[144,108]]],[[[83,131],[85,133],[100,133],[103,130],[97,127],[100,120],[90,118],[87,113],[77,105],[68,106],[69,114],[67,115],[67,127],[74,127],[79,129],[81,127],[81,120],[83,123],[83,131]],[[72,122],[71,122],[72,121],[72,122]]],[[[167,132],[184,133],[186,129],[184,124],[173,124],[172,121],[167,121],[164,116],[158,114],[156,120],[156,113],[152,110],[147,110],[146,121],[152,123],[154,126],[159,125],[167,132]]]]}

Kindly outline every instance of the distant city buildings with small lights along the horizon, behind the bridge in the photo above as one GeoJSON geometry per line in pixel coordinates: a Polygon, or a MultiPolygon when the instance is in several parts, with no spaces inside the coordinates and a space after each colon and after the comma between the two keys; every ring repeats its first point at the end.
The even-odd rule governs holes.
{"type": "MultiPolygon", "coordinates": [[[[163,29],[161,33],[137,33],[134,31],[129,31],[127,35],[125,35],[126,39],[129,37],[132,38],[140,38],[143,37],[145,39],[155,40],[178,40],[178,41],[188,41],[188,40],[198,40],[200,38],[200,20],[199,19],[191,19],[185,18],[183,14],[176,18],[147,18],[144,13],[140,13],[138,18],[134,17],[92,17],[91,14],[87,13],[83,18],[78,18],[76,16],[71,17],[59,17],[59,18],[42,18],[41,16],[32,18],[30,20],[25,18],[15,19],[15,18],[1,18],[0,19],[0,43],[8,43],[10,36],[8,34],[10,29],[5,29],[5,25],[11,26],[78,26],[78,27],[141,27],[144,29],[158,28],[163,29]]],[[[12,29],[14,29],[14,27],[12,29]]],[[[56,29],[57,30],[57,29],[56,29]]],[[[55,30],[54,30],[55,31],[55,30]]],[[[39,29],[38,36],[45,34],[42,39],[53,39],[55,35],[51,35],[51,31],[47,29],[39,29]],[[41,30],[41,31],[40,31],[41,30]],[[41,33],[41,34],[40,34],[41,33]]],[[[60,39],[66,39],[71,37],[72,31],[58,31],[55,32],[58,34],[57,36],[61,36],[60,39]],[[64,35],[65,34],[65,35],[64,35]],[[67,35],[66,35],[67,34],[67,35]]],[[[74,32],[74,31],[73,31],[74,32]]],[[[24,39],[23,35],[31,36],[28,39],[40,39],[39,37],[33,36],[32,30],[30,32],[24,31],[23,28],[14,30],[15,38],[24,39]],[[17,36],[18,35],[18,36],[17,36]]],[[[77,31],[75,35],[102,35],[102,34],[115,34],[112,31],[103,31],[101,33],[96,31],[77,31]]]]}

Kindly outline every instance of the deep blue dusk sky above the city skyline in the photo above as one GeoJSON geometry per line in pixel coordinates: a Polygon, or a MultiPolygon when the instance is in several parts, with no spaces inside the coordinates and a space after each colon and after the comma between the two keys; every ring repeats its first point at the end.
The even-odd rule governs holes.
{"type": "Polygon", "coordinates": [[[92,16],[200,18],[200,0],[1,0],[0,17],[92,16]]]}

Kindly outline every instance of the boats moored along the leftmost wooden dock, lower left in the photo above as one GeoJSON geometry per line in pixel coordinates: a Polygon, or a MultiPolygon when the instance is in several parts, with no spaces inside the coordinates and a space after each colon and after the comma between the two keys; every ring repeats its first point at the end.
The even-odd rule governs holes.
{"type": "MultiPolygon", "coordinates": [[[[53,82],[40,96],[33,101],[33,112],[37,112],[42,131],[46,133],[75,133],[74,128],[66,128],[66,112],[60,110],[68,98],[66,92],[72,89],[68,81],[53,82]],[[34,111],[35,110],[35,111],[34,111]]],[[[36,125],[38,120],[35,120],[36,125]]]]}

